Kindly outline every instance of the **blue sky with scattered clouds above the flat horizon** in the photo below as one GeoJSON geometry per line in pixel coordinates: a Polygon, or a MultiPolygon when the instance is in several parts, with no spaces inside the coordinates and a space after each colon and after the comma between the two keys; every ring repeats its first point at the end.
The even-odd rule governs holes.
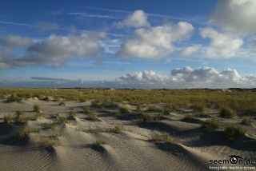
{"type": "Polygon", "coordinates": [[[1,0],[0,87],[256,87],[254,0],[1,0]]]}

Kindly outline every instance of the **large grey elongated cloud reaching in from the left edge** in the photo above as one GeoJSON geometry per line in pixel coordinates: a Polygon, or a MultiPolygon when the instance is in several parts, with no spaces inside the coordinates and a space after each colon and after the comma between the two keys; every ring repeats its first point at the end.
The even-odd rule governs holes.
{"type": "Polygon", "coordinates": [[[28,46],[22,57],[18,57],[11,50],[1,50],[0,69],[43,64],[60,67],[70,58],[98,58],[104,50],[98,40],[103,38],[106,38],[104,32],[67,36],[52,34],[42,42],[28,46]]]}

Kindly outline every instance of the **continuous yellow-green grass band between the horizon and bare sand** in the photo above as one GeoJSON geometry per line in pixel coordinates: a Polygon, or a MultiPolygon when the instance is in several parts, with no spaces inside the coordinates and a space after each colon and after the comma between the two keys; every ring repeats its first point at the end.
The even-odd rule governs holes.
{"type": "MultiPolygon", "coordinates": [[[[194,113],[203,113],[206,107],[226,106],[234,113],[243,111],[250,116],[256,115],[255,89],[0,89],[1,97],[9,97],[9,101],[17,101],[24,97],[59,97],[65,101],[92,100],[92,105],[109,105],[108,101],[128,101],[130,105],[165,103],[166,108],[192,106],[194,113]],[[108,97],[108,98],[106,98],[108,97]],[[94,100],[96,99],[96,100],[94,100]],[[198,105],[200,104],[200,105],[198,105]],[[201,107],[200,107],[201,106],[201,107]]],[[[101,106],[102,107],[102,106],[101,106]]],[[[152,109],[149,107],[149,109],[152,109]]],[[[153,107],[154,111],[158,111],[153,107]]],[[[159,109],[160,110],[160,109],[159,109]]],[[[223,111],[222,111],[223,112],[223,111]]],[[[223,112],[228,113],[228,112],[223,112]]],[[[223,114],[226,117],[226,114],[223,114]]],[[[232,115],[231,115],[232,116],[232,115]]]]}

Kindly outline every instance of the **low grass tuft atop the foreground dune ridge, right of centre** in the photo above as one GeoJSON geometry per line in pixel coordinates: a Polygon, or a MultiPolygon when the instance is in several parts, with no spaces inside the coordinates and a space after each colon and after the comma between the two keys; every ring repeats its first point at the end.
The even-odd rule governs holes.
{"type": "Polygon", "coordinates": [[[178,139],[171,137],[169,133],[166,132],[159,132],[157,130],[154,130],[151,133],[151,137],[150,137],[151,141],[163,141],[163,142],[167,142],[168,144],[176,144],[178,143],[178,139]]]}

